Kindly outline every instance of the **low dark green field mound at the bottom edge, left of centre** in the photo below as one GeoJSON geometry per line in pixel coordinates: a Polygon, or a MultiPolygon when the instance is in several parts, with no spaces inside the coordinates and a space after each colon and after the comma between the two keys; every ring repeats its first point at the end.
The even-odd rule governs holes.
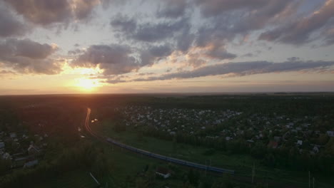
{"type": "Polygon", "coordinates": [[[37,188],[51,187],[51,188],[92,188],[96,187],[96,182],[93,181],[89,172],[85,169],[66,172],[60,177],[50,179],[43,184],[36,186],[37,188]]]}

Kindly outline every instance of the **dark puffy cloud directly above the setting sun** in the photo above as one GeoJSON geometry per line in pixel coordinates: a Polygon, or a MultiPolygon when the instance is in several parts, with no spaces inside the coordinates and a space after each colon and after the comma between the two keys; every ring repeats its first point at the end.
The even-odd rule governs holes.
{"type": "Polygon", "coordinates": [[[129,46],[93,45],[76,58],[72,66],[98,66],[106,75],[129,73],[139,68],[138,61],[131,56],[131,53],[129,46]]]}

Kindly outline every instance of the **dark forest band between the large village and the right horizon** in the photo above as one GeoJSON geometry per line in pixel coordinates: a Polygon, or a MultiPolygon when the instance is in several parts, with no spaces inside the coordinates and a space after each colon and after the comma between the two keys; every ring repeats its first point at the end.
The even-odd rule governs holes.
{"type": "Polygon", "coordinates": [[[333,95],[209,95],[133,102],[157,108],[231,109],[253,113],[334,115],[333,95]]]}

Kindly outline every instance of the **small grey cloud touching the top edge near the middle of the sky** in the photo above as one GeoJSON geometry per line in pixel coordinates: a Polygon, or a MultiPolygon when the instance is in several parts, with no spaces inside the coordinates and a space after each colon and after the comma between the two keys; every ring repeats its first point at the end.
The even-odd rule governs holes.
{"type": "Polygon", "coordinates": [[[186,7],[186,0],[164,0],[156,14],[158,17],[176,19],[185,14],[186,7]]]}

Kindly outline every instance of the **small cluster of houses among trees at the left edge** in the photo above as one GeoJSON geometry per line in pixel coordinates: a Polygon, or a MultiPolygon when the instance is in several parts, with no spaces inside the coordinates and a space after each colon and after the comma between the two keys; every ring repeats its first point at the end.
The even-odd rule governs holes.
{"type": "Polygon", "coordinates": [[[46,133],[31,134],[26,130],[14,132],[3,129],[0,132],[0,158],[5,163],[6,170],[29,168],[39,164],[48,145],[48,137],[46,133]]]}

